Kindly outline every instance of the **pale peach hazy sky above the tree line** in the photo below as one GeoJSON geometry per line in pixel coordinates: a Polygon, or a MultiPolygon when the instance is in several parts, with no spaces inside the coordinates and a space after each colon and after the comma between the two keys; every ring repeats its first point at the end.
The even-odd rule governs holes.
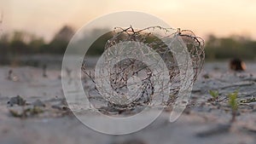
{"type": "MultiPolygon", "coordinates": [[[[84,26],[103,14],[135,10],[201,37],[256,39],[255,0],[0,0],[3,32],[24,30],[50,39],[63,25],[84,26]]],[[[107,21],[108,22],[108,21],[107,21]]]]}

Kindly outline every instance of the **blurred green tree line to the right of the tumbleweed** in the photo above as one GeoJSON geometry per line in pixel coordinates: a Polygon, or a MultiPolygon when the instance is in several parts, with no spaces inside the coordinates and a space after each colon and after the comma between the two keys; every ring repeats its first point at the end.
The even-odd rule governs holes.
{"type": "Polygon", "coordinates": [[[256,41],[249,37],[231,36],[215,37],[210,35],[206,41],[206,59],[222,60],[241,58],[253,60],[256,58],[256,41]]]}

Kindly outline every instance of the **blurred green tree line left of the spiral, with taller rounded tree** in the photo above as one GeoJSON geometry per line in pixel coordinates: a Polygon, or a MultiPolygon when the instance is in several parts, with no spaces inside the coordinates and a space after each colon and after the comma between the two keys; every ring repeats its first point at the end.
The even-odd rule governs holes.
{"type": "Polygon", "coordinates": [[[0,64],[9,64],[19,55],[63,55],[73,37],[71,26],[63,26],[49,43],[43,37],[28,32],[15,31],[0,37],[0,64]]]}

